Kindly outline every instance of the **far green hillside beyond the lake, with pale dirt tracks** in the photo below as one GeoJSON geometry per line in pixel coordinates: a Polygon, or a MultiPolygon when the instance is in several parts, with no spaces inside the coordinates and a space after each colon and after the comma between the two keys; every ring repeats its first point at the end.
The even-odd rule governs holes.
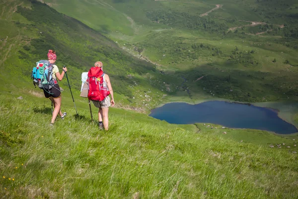
{"type": "Polygon", "coordinates": [[[294,0],[86,0],[72,1],[72,7],[64,6],[70,0],[45,2],[104,32],[179,83],[181,76],[186,79],[182,87],[163,81],[175,84],[165,101],[298,99],[294,0]]]}

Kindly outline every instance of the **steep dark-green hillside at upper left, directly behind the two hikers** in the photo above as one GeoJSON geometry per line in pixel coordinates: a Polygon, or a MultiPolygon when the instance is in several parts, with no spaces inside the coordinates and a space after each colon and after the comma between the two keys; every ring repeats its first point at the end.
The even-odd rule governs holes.
{"type": "MultiPolygon", "coordinates": [[[[3,1],[1,10],[1,90],[10,93],[25,86],[27,92],[41,95],[40,90],[34,90],[30,75],[34,63],[46,59],[48,49],[57,51],[60,69],[68,66],[76,96],[81,72],[87,71],[98,60],[104,63],[104,71],[111,77],[118,94],[118,106],[144,111],[147,108],[143,103],[146,99],[144,91],[152,92],[151,98],[154,98],[154,91],[159,89],[159,85],[147,80],[150,76],[159,78],[161,75],[151,63],[131,56],[115,42],[74,18],[34,0],[3,1]],[[135,86],[138,86],[138,92],[133,93],[135,86]]],[[[61,86],[67,92],[67,81],[63,81],[61,86]]]]}

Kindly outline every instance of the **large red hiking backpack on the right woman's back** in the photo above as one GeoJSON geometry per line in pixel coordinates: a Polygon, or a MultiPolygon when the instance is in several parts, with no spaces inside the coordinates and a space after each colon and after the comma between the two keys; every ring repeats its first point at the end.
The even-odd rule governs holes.
{"type": "Polygon", "coordinates": [[[100,67],[92,67],[88,72],[88,99],[102,101],[110,95],[106,82],[103,81],[104,72],[100,67]]]}

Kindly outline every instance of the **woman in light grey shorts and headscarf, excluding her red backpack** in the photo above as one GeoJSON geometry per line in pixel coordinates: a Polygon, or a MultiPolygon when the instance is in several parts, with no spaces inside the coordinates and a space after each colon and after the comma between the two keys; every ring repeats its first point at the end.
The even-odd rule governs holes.
{"type": "MultiPolygon", "coordinates": [[[[95,67],[99,67],[102,70],[103,64],[102,62],[96,62],[94,64],[95,67]]],[[[102,72],[103,73],[103,72],[102,72]]],[[[105,130],[109,129],[109,118],[108,118],[108,112],[109,112],[109,106],[114,106],[115,101],[114,101],[114,93],[112,89],[112,85],[110,82],[110,78],[107,74],[104,74],[103,76],[103,84],[106,84],[108,87],[108,91],[110,92],[111,99],[109,96],[107,96],[104,100],[102,101],[93,101],[93,104],[95,107],[98,108],[98,127],[100,130],[105,130]]]]}

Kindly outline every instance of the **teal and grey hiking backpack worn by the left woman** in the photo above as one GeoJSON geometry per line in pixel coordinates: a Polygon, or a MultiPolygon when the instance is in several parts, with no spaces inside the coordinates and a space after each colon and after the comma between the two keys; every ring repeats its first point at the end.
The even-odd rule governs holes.
{"type": "Polygon", "coordinates": [[[43,89],[50,93],[54,87],[55,80],[53,79],[53,67],[48,60],[40,60],[36,62],[36,67],[32,70],[33,85],[36,88],[43,89]]]}

